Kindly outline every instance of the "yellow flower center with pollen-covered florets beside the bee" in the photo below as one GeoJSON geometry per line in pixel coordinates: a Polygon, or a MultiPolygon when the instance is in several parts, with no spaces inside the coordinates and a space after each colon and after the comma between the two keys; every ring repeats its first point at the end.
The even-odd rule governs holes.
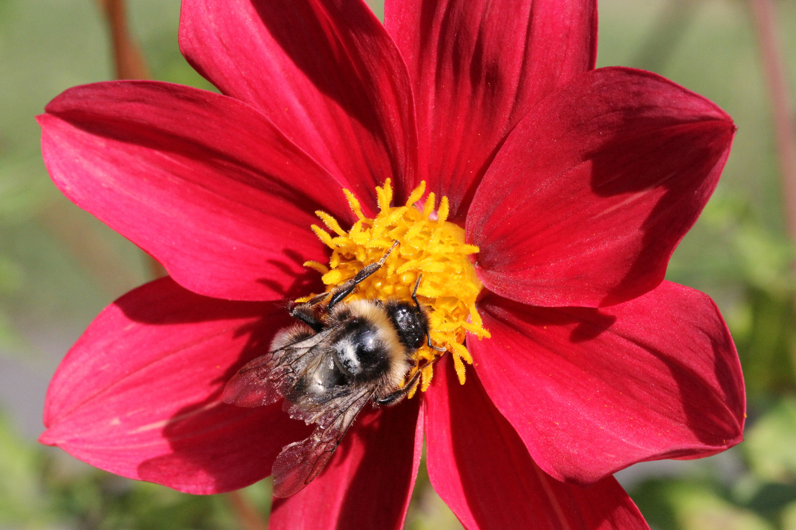
{"type": "MultiPolygon", "coordinates": [[[[428,194],[422,209],[416,207],[425,189],[426,183],[421,182],[404,206],[392,207],[392,188],[387,179],[384,188],[376,188],[380,212],[375,219],[362,215],[357,198],[350,191],[343,190],[351,210],[357,215],[357,222],[346,232],[331,215],[315,212],[336,234],[333,236],[319,226],[312,226],[315,234],[332,250],[332,257],[328,267],[317,261],[307,261],[304,265],[323,274],[322,280],[328,292],[352,279],[365,265],[379,261],[393,242],[399,242],[384,265],[359,284],[357,291],[350,296],[365,300],[412,301],[412,289],[422,274],[417,295],[420,304],[428,308],[431,342],[451,352],[458,380],[464,384],[465,363],[473,362],[464,345],[466,332],[470,331],[478,339],[490,336],[475,308],[482,284],[475,275],[469,255],[477,253],[478,247],[467,245],[464,230],[446,221],[447,197],[439,201],[436,212],[433,193],[428,194]]],[[[309,299],[308,296],[298,301],[309,299]]],[[[419,386],[425,392],[431,383],[433,362],[444,353],[428,346],[420,347],[415,352],[416,363],[406,381],[420,370],[419,386]]],[[[409,397],[416,388],[412,389],[409,397]]]]}

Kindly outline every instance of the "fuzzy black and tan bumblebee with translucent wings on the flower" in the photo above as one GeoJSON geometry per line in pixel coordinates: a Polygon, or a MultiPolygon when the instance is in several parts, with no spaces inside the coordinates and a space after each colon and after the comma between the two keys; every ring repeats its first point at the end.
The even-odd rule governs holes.
{"type": "Polygon", "coordinates": [[[318,476],[365,404],[392,405],[406,397],[420,374],[418,369],[406,381],[423,342],[444,351],[432,346],[426,310],[417,300],[422,276],[414,304],[345,301],[397,245],[331,292],[290,304],[298,323],[279,331],[269,353],[241,368],[224,388],[225,403],[258,407],[284,400],[291,418],[315,425],[309,438],[283,447],[276,458],[275,497],[289,497],[318,476]]]}

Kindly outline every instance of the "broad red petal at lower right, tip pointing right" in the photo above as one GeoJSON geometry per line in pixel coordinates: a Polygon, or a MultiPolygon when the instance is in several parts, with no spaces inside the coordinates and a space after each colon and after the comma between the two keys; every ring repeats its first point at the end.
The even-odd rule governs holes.
{"type": "Polygon", "coordinates": [[[605,309],[490,296],[491,339],[468,339],[497,408],[548,474],[583,484],[644,460],[708,456],[741,441],[736,348],[707,295],[664,282],[605,309]]]}

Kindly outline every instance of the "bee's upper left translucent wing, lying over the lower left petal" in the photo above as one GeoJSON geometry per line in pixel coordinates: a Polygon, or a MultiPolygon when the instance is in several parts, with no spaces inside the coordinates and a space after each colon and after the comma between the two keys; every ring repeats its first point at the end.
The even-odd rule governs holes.
{"type": "Polygon", "coordinates": [[[249,362],[227,382],[221,399],[239,407],[276,403],[308,370],[326,357],[326,341],[332,329],[277,348],[249,362]]]}

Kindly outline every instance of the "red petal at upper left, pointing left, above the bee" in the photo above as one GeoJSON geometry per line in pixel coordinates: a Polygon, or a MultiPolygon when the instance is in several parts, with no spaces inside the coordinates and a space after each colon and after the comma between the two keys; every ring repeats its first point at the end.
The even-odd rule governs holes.
{"type": "Polygon", "coordinates": [[[96,83],[64,92],[47,112],[42,149],[60,190],[194,292],[305,295],[302,263],[326,256],[313,211],[350,215],[341,184],[232,98],[96,83]]]}

